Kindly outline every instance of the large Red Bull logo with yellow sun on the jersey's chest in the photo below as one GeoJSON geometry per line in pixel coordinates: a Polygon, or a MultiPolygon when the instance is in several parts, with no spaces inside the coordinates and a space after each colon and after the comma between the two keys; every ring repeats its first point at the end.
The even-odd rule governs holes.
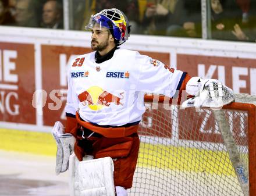
{"type": "Polygon", "coordinates": [[[123,105],[121,102],[123,93],[124,92],[114,95],[111,92],[102,90],[100,87],[93,86],[86,91],[81,92],[81,94],[78,95],[78,98],[84,106],[88,106],[88,108],[98,111],[104,106],[111,106],[111,104],[123,105]]]}

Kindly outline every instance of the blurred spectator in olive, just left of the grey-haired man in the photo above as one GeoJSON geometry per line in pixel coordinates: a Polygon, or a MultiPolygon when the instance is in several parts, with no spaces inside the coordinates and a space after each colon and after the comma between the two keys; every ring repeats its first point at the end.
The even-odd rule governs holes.
{"type": "Polygon", "coordinates": [[[37,5],[33,0],[17,0],[15,5],[16,26],[38,27],[37,5]]]}

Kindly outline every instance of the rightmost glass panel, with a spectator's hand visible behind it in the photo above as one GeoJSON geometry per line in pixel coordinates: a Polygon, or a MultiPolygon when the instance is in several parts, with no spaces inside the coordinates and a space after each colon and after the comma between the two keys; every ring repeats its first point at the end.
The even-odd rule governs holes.
{"type": "Polygon", "coordinates": [[[208,3],[211,3],[213,39],[255,42],[255,0],[210,0],[208,3]]]}

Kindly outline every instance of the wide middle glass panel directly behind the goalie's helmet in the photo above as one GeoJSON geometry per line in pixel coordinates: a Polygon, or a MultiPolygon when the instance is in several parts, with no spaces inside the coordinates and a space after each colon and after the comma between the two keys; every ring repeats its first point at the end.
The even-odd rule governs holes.
{"type": "Polygon", "coordinates": [[[92,14],[116,8],[129,19],[131,34],[201,38],[200,0],[70,0],[69,3],[73,30],[84,30],[92,14]]]}

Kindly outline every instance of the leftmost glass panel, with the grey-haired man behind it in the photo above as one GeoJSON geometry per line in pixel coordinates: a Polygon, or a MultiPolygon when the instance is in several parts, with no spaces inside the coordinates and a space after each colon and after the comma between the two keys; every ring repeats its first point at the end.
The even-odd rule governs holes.
{"type": "Polygon", "coordinates": [[[0,0],[0,25],[63,28],[62,0],[0,0]]]}

